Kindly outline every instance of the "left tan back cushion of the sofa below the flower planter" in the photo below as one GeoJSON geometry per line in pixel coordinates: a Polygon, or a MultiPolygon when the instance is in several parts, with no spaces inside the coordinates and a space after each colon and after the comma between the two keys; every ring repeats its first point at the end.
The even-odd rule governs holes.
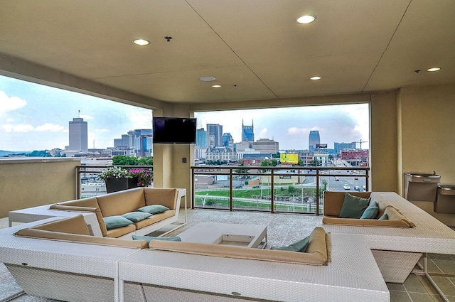
{"type": "Polygon", "coordinates": [[[103,217],[122,215],[144,207],[144,188],[134,188],[97,197],[103,217]]]}

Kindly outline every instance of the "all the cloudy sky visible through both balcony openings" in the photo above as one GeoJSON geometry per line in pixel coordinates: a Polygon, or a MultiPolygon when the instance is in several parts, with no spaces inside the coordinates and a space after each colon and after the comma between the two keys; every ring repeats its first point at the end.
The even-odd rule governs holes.
{"type": "MultiPolygon", "coordinates": [[[[196,112],[198,129],[221,124],[234,142],[242,139],[242,119],[254,125],[255,140],[274,139],[279,149],[308,149],[310,130],[321,144],[365,141],[369,146],[368,104],[196,112]]],[[[151,129],[152,111],[0,75],[0,150],[65,149],[68,122],[82,117],[88,125],[89,148],[114,146],[129,130],[151,129]]],[[[360,144],[358,144],[358,147],[360,144]]]]}

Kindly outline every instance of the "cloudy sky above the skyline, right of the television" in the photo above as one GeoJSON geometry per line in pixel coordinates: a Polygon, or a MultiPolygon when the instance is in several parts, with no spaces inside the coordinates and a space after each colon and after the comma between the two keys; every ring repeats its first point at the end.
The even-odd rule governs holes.
{"type": "MultiPolygon", "coordinates": [[[[223,125],[234,142],[242,141],[242,119],[245,126],[254,126],[255,141],[274,139],[279,150],[308,149],[311,130],[318,130],[321,144],[333,149],[334,142],[362,142],[369,149],[368,104],[306,106],[271,109],[232,110],[196,113],[198,129],[206,124],[223,125]]],[[[360,144],[357,144],[360,148],[360,144]]]]}

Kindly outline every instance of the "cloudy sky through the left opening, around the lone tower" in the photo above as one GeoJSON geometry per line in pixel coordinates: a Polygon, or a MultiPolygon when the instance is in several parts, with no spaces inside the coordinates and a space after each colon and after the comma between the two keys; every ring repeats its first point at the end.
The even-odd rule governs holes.
{"type": "Polygon", "coordinates": [[[0,150],[65,149],[75,117],[87,122],[89,149],[112,147],[129,130],[152,126],[150,109],[0,75],[0,150]]]}

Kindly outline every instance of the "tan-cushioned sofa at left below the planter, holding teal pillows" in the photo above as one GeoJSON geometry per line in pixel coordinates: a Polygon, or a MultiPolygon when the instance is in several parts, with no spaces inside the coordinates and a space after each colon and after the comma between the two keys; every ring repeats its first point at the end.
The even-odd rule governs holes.
{"type": "Polygon", "coordinates": [[[56,203],[50,206],[50,210],[94,212],[103,237],[131,239],[131,234],[149,234],[176,222],[181,205],[179,193],[180,190],[175,188],[134,188],[56,203]],[[139,219],[139,210],[149,211],[153,215],[142,215],[139,219]]]}

